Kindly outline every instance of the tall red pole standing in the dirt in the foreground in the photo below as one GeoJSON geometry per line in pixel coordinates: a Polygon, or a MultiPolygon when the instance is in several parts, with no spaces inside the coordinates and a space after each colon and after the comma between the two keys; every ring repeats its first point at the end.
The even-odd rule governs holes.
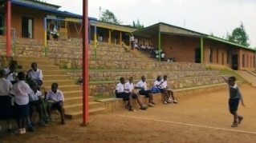
{"type": "Polygon", "coordinates": [[[89,96],[89,73],[88,73],[88,0],[83,0],[83,125],[89,122],[88,96],[89,96]]]}

